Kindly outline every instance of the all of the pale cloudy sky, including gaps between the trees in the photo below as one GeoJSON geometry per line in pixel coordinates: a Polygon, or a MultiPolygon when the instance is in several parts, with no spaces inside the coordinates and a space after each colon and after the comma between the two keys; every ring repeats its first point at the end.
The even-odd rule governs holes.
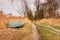
{"type": "MultiPolygon", "coordinates": [[[[32,12],[36,11],[36,7],[34,4],[35,0],[26,0],[27,5],[29,9],[31,9],[32,12]]],[[[56,0],[57,3],[60,5],[60,0],[56,0]]],[[[40,0],[40,3],[46,2],[45,0],[40,0]]],[[[12,13],[13,16],[24,16],[24,3],[22,3],[22,0],[13,0],[13,3],[11,4],[11,0],[0,0],[0,10],[3,10],[5,14],[12,13]],[[20,14],[17,12],[20,11],[20,14]]]]}

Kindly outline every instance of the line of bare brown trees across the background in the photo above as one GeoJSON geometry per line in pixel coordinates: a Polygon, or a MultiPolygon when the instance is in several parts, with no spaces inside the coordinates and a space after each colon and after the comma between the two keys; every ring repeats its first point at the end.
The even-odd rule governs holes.
{"type": "Polygon", "coordinates": [[[46,3],[40,3],[40,0],[35,0],[35,7],[36,11],[35,16],[32,15],[31,9],[29,9],[27,5],[27,0],[23,0],[23,3],[25,3],[25,10],[24,11],[24,16],[28,17],[30,20],[40,20],[42,18],[58,18],[59,13],[56,12],[58,9],[58,4],[56,3],[55,0],[45,0],[47,1],[46,3]]]}

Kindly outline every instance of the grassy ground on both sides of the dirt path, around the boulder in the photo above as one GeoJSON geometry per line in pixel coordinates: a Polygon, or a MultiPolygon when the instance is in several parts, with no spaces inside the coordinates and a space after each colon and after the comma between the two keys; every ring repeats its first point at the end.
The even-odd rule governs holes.
{"type": "MultiPolygon", "coordinates": [[[[28,18],[2,17],[0,18],[0,40],[31,40],[32,28],[28,18]],[[22,28],[8,28],[9,21],[23,20],[22,28]]],[[[33,21],[36,24],[41,40],[60,40],[60,19],[48,18],[33,21]]]]}

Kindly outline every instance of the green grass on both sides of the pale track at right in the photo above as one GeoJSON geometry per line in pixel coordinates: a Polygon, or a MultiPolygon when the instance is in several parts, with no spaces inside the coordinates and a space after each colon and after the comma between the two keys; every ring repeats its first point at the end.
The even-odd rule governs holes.
{"type": "MultiPolygon", "coordinates": [[[[39,25],[38,30],[42,35],[42,40],[60,40],[60,35],[56,34],[54,32],[51,32],[51,29],[46,30],[44,27],[54,27],[53,24],[46,24],[46,23],[40,23],[39,21],[34,21],[35,24],[39,25]]],[[[60,27],[54,27],[56,29],[60,29],[60,27]]]]}

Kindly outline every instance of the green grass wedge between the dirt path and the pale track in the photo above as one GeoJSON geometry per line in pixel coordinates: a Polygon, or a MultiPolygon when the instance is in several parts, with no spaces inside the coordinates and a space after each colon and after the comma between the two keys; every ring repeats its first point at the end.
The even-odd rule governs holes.
{"type": "Polygon", "coordinates": [[[42,40],[60,40],[60,36],[55,34],[55,33],[52,33],[46,29],[43,29],[41,27],[38,27],[39,29],[39,32],[41,33],[42,35],[42,40]]]}

